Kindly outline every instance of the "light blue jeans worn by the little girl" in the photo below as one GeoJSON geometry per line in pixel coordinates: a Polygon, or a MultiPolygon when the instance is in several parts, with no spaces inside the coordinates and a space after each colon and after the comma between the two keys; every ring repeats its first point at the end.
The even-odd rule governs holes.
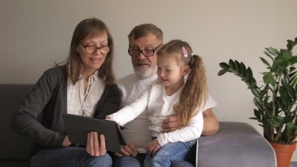
{"type": "Polygon", "coordinates": [[[190,142],[169,143],[162,146],[153,157],[151,157],[147,152],[144,167],[175,166],[173,163],[181,163],[181,161],[186,160],[189,152],[191,152],[192,147],[195,146],[195,143],[196,140],[192,140],[190,142]]]}

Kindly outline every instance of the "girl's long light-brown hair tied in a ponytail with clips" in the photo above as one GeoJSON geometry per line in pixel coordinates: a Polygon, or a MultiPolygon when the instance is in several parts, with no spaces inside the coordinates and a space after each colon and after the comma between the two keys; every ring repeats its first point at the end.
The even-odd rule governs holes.
{"type": "Polygon", "coordinates": [[[189,125],[191,118],[204,107],[208,98],[205,67],[201,57],[192,53],[191,46],[181,40],[172,40],[157,51],[157,56],[174,56],[179,65],[190,66],[188,79],[179,97],[178,115],[183,126],[189,125]],[[185,57],[183,47],[188,57],[185,57]]]}

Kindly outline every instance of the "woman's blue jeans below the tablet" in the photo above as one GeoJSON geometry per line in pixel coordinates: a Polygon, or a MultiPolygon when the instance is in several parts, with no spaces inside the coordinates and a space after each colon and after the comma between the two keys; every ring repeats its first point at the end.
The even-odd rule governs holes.
{"type": "Polygon", "coordinates": [[[44,148],[31,158],[30,167],[111,167],[111,157],[91,156],[82,147],[44,148]]]}

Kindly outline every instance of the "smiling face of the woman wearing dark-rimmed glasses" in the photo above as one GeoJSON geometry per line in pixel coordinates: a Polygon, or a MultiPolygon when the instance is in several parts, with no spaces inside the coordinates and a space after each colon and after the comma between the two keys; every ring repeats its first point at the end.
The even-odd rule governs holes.
{"type": "Polygon", "coordinates": [[[100,52],[100,49],[97,49],[94,53],[87,53],[84,45],[96,46],[96,47],[108,46],[107,33],[103,32],[94,37],[86,37],[84,40],[80,41],[79,45],[76,48],[83,62],[84,72],[85,73],[95,72],[104,63],[108,52],[105,54],[102,54],[100,52]]]}

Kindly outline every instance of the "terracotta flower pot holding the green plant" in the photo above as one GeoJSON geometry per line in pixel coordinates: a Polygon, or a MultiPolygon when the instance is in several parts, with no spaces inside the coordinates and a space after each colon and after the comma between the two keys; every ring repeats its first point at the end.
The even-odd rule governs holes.
{"type": "Polygon", "coordinates": [[[293,152],[296,149],[294,145],[281,145],[278,143],[269,142],[276,151],[277,167],[289,167],[293,152]]]}

